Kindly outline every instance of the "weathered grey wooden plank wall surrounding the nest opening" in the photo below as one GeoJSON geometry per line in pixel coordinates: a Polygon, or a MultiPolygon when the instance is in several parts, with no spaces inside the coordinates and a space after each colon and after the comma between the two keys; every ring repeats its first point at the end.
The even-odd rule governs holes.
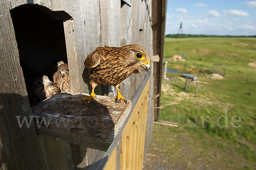
{"type": "MultiPolygon", "coordinates": [[[[17,126],[15,116],[26,116],[29,119],[32,113],[19,63],[10,10],[25,4],[44,6],[51,11],[65,11],[72,17],[72,20],[64,20],[71,87],[74,93],[90,93],[91,88],[87,84],[87,72],[83,68],[83,62],[96,47],[140,44],[149,54],[153,54],[152,2],[132,0],[131,6],[121,0],[1,0],[0,2],[0,86],[3,87],[0,88],[0,167],[45,170],[85,169],[99,162],[100,155],[105,153],[47,136],[38,136],[34,125],[29,128],[17,126]]],[[[141,74],[133,74],[122,82],[120,84],[122,96],[133,99],[144,77],[145,73],[141,71],[141,74]]],[[[153,83],[150,84],[150,89],[153,88],[152,85],[153,83]]],[[[99,85],[96,94],[115,96],[116,90],[110,86],[99,85]]],[[[151,106],[154,105],[152,93],[149,93],[149,103],[151,106]]],[[[148,106],[147,119],[153,114],[151,106],[148,106]]],[[[145,139],[150,141],[152,120],[148,121],[146,126],[149,130],[146,130],[145,139]]],[[[148,146],[148,143],[145,145],[148,146]]]]}

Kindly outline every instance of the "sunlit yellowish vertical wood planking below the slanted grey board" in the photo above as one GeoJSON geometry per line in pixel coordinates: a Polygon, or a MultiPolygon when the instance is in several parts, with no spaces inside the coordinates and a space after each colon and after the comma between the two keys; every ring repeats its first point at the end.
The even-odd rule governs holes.
{"type": "Polygon", "coordinates": [[[131,113],[121,136],[121,170],[143,168],[149,82],[131,113]],[[136,126],[137,124],[137,126],[136,126]],[[137,127],[137,128],[136,128],[137,127]]]}

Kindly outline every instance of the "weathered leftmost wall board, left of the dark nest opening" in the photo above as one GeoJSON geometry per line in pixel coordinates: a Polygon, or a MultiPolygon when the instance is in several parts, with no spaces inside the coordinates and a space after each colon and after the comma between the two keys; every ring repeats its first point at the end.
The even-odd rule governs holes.
{"type": "Polygon", "coordinates": [[[47,169],[35,125],[19,127],[16,117],[29,121],[32,113],[10,9],[8,0],[0,2],[0,169],[47,169]]]}

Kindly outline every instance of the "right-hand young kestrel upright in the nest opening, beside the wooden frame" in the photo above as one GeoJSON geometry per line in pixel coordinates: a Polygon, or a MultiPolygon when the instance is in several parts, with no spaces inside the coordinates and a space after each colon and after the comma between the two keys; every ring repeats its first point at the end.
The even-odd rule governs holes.
{"type": "MultiPolygon", "coordinates": [[[[58,76],[57,76],[57,79],[55,80],[56,84],[60,88],[61,92],[69,92],[71,88],[70,88],[70,75],[69,75],[68,64],[59,65],[57,72],[58,72],[58,76]]],[[[55,78],[53,77],[53,79],[55,78]]]]}

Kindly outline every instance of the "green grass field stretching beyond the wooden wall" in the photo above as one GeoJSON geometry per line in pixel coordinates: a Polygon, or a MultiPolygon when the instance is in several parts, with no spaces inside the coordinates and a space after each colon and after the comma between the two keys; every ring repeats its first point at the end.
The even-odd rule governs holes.
{"type": "Polygon", "coordinates": [[[163,79],[160,120],[179,127],[154,125],[147,169],[256,169],[256,38],[166,38],[164,61],[200,88],[196,98],[196,83],[184,91],[179,74],[163,79]],[[213,68],[224,79],[207,77],[213,68]]]}

